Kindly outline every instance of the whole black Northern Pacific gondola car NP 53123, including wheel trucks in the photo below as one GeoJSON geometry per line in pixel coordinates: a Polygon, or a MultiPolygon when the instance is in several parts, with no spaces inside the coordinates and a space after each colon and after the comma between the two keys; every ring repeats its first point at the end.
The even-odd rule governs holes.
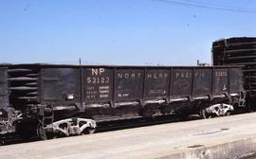
{"type": "Polygon", "coordinates": [[[91,133],[97,123],[141,116],[208,118],[245,107],[240,66],[13,64],[2,72],[9,77],[0,85],[0,108],[9,114],[5,132],[14,128],[23,138],[91,133]]]}

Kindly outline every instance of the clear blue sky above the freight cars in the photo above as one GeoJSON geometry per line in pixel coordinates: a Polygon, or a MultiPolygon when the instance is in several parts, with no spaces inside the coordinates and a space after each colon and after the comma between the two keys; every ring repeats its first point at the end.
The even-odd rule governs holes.
{"type": "Polygon", "coordinates": [[[245,36],[253,0],[0,0],[0,62],[196,65],[245,36]]]}

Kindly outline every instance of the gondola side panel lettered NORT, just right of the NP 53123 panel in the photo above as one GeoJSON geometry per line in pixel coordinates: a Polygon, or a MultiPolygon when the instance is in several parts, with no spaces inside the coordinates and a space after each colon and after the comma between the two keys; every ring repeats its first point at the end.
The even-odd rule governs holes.
{"type": "Polygon", "coordinates": [[[144,69],[117,68],[115,75],[115,100],[142,98],[144,69]]]}

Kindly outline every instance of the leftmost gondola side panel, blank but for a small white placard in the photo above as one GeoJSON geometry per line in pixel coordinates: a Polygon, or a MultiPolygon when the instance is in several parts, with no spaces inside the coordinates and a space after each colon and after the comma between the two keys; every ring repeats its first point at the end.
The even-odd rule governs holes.
{"type": "Polygon", "coordinates": [[[81,100],[81,71],[79,68],[42,68],[41,102],[68,105],[81,100]]]}

